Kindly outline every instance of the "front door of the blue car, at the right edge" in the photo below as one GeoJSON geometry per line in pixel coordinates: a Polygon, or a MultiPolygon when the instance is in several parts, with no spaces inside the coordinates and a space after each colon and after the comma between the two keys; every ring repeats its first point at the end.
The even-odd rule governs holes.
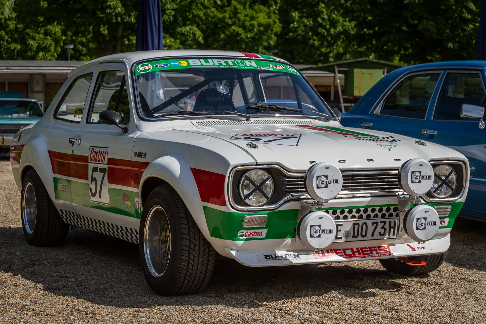
{"type": "Polygon", "coordinates": [[[469,192],[464,207],[471,213],[486,212],[486,129],[479,127],[479,119],[461,117],[461,107],[463,104],[486,105],[483,73],[449,70],[434,112],[424,122],[420,135],[423,140],[449,146],[468,158],[469,192]]]}

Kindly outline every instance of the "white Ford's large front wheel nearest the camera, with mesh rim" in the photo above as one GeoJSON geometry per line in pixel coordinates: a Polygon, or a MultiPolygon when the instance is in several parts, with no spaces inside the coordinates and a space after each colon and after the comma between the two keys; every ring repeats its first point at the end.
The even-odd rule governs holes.
{"type": "Polygon", "coordinates": [[[156,293],[163,296],[204,290],[211,278],[216,258],[216,251],[199,230],[181,197],[169,185],[155,188],[143,206],[139,230],[139,253],[147,283],[156,293]],[[156,223],[158,225],[149,226],[156,223]],[[163,224],[160,225],[161,223],[163,224]],[[151,236],[150,233],[155,233],[152,231],[157,226],[159,231],[156,233],[159,235],[151,236]],[[163,227],[162,230],[160,226],[163,227]],[[168,234],[167,227],[170,228],[168,234]],[[147,237],[144,239],[146,228],[147,237]],[[150,239],[149,236],[154,239],[150,239]],[[165,245],[163,243],[166,241],[169,242],[168,247],[167,243],[165,245]],[[152,262],[151,258],[146,256],[146,249],[147,251],[150,247],[157,249],[158,242],[161,242],[159,250],[149,253],[149,256],[154,256],[152,262]],[[167,254],[169,254],[168,261],[167,254]],[[160,259],[164,261],[161,262],[160,259]]]}

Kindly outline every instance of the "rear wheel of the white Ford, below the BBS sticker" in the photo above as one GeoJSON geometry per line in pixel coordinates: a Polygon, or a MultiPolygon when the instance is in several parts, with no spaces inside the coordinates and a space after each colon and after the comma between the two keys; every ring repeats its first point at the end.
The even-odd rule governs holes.
{"type": "Polygon", "coordinates": [[[52,203],[51,197],[49,197],[46,187],[34,169],[28,171],[22,181],[20,215],[24,235],[29,244],[55,246],[63,244],[66,240],[69,224],[62,220],[61,215],[52,203]],[[26,193],[30,193],[30,195],[26,195],[26,193]],[[35,197],[32,193],[35,194],[35,197]],[[26,206],[30,206],[30,208],[26,206]],[[35,215],[33,222],[32,217],[28,218],[27,216],[29,211],[31,212],[30,215],[35,215]]]}

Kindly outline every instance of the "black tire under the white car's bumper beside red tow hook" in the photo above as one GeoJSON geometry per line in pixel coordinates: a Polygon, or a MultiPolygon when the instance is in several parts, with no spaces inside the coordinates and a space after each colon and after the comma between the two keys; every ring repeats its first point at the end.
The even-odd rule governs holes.
{"type": "Polygon", "coordinates": [[[408,259],[414,261],[425,261],[427,263],[425,266],[409,266],[404,261],[401,261],[399,259],[382,259],[380,260],[380,263],[389,272],[414,276],[433,272],[435,269],[440,267],[446,256],[447,251],[441,254],[407,257],[408,259]]]}

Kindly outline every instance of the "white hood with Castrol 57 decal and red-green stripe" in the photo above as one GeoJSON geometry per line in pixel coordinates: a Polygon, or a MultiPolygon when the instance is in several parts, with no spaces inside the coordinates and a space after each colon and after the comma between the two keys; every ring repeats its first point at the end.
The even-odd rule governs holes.
{"type": "Polygon", "coordinates": [[[430,142],[421,145],[411,137],[343,127],[332,121],[192,121],[192,126],[172,129],[220,138],[246,151],[258,164],[280,164],[289,171],[307,170],[312,161],[331,162],[340,169],[382,169],[399,168],[417,157],[449,159],[441,146],[430,142]]]}

